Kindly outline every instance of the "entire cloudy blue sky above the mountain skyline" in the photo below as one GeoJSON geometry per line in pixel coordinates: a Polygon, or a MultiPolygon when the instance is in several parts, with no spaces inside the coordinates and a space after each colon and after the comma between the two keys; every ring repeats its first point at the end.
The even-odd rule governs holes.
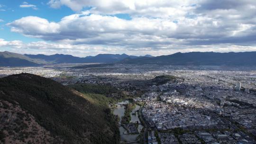
{"type": "Polygon", "coordinates": [[[0,51],[256,51],[255,0],[1,0],[0,51]]]}

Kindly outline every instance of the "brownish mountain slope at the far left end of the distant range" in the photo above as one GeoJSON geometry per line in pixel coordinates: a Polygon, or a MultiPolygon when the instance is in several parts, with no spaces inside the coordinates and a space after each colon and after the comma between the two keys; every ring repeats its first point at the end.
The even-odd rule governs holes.
{"type": "Polygon", "coordinates": [[[0,52],[0,66],[38,66],[43,63],[45,62],[22,54],[0,52]]]}

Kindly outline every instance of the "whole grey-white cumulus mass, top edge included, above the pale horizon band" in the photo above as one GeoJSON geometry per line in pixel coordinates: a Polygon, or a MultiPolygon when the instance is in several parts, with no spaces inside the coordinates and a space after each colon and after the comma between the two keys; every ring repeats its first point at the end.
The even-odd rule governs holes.
{"type": "Polygon", "coordinates": [[[60,21],[29,16],[7,26],[63,45],[103,45],[120,51],[255,50],[255,0],[50,0],[48,4],[65,5],[76,14],[60,21]]]}

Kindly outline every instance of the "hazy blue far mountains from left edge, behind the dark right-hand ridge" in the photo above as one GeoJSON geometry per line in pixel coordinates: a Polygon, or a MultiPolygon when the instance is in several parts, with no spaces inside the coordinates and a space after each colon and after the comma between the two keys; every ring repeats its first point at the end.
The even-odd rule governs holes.
{"type": "Polygon", "coordinates": [[[126,58],[153,57],[151,55],[134,56],[127,54],[98,54],[96,56],[76,57],[67,54],[16,54],[0,52],[0,66],[39,66],[59,63],[116,63],[126,58]]]}

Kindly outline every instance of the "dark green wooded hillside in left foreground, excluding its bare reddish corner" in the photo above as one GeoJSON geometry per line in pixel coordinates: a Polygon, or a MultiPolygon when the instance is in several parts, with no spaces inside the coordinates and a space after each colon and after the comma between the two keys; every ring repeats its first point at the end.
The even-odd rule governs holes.
{"type": "MultiPolygon", "coordinates": [[[[25,116],[34,117],[38,126],[44,128],[48,143],[119,143],[119,129],[109,108],[93,104],[87,100],[86,95],[53,80],[27,73],[1,78],[0,102],[18,106],[21,111],[26,112],[25,116]],[[52,137],[54,137],[53,140],[52,137]]],[[[8,107],[5,108],[8,109],[8,107]]],[[[1,116],[5,115],[2,110],[0,112],[1,116]]],[[[10,115],[18,117],[14,113],[15,111],[10,112],[10,115]]],[[[26,119],[19,119],[21,119],[19,123],[24,125],[22,128],[16,130],[18,126],[11,123],[10,127],[14,127],[16,133],[24,134],[25,136],[21,136],[20,139],[26,143],[27,139],[33,137],[34,132],[27,133],[26,119]]],[[[8,121],[9,119],[1,120],[8,121]]],[[[13,133],[13,131],[7,131],[3,123],[0,123],[2,139],[9,140],[14,135],[13,133]]]]}

